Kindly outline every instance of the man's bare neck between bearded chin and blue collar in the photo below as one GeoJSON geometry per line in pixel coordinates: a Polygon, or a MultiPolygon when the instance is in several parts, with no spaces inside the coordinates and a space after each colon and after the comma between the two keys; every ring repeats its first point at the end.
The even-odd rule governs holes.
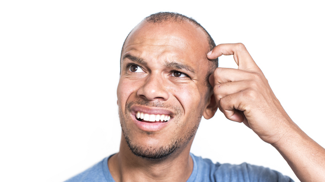
{"type": "Polygon", "coordinates": [[[116,182],[187,181],[193,170],[189,155],[193,138],[163,159],[145,159],[133,154],[121,138],[120,152],[110,157],[108,166],[116,182]]]}

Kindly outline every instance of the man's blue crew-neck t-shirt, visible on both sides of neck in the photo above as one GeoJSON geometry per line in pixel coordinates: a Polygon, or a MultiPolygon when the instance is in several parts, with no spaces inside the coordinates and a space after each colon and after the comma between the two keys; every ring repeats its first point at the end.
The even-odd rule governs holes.
{"type": "MultiPolygon", "coordinates": [[[[193,171],[187,182],[293,182],[288,176],[262,166],[242,163],[240,165],[214,164],[190,154],[193,171]]],[[[65,182],[115,182],[108,169],[106,157],[101,162],[65,182]]]]}

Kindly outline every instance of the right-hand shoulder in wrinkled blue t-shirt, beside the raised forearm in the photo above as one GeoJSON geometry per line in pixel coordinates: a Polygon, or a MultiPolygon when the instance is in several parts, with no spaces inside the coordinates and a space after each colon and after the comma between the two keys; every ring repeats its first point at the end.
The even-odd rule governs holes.
{"type": "Polygon", "coordinates": [[[242,163],[240,165],[213,163],[210,159],[203,159],[191,155],[197,164],[197,179],[202,181],[265,181],[265,182],[293,182],[288,176],[263,166],[242,163]]]}

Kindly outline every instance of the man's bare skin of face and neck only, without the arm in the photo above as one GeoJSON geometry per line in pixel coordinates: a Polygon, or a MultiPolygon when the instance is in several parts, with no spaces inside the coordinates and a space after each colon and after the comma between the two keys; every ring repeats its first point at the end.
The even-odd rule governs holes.
{"type": "Polygon", "coordinates": [[[202,115],[207,118],[213,116],[206,114],[212,95],[212,88],[206,84],[206,75],[211,72],[210,61],[206,57],[208,51],[204,32],[188,22],[142,22],[131,32],[122,52],[117,88],[122,130],[131,144],[144,148],[168,146],[179,139],[180,142],[172,155],[158,161],[148,160],[132,154],[122,134],[120,152],[108,162],[115,181],[188,179],[193,169],[189,156],[194,138],[191,135],[195,134],[202,115]],[[193,55],[188,52],[198,53],[193,55]],[[143,62],[136,61],[134,57],[141,58],[143,62]],[[131,72],[127,66],[129,63],[138,65],[139,72],[131,72]],[[175,64],[188,69],[180,69],[173,66],[175,64]],[[176,77],[175,71],[187,76],[181,74],[176,77]],[[136,104],[132,104],[131,108],[127,107],[134,102],[136,104]],[[156,107],[157,104],[163,107],[156,107]],[[132,112],[137,109],[146,112],[166,109],[172,118],[162,129],[146,131],[132,120],[132,112]]]}

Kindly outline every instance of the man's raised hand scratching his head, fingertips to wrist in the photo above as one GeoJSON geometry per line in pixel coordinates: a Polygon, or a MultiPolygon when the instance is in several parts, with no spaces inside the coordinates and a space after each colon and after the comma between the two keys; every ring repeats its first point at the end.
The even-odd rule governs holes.
{"type": "Polygon", "coordinates": [[[221,55],[234,55],[238,69],[216,68],[209,77],[218,108],[227,119],[244,122],[265,142],[277,142],[286,127],[294,123],[264,74],[241,43],[220,44],[207,57],[216,59],[221,55]]]}

